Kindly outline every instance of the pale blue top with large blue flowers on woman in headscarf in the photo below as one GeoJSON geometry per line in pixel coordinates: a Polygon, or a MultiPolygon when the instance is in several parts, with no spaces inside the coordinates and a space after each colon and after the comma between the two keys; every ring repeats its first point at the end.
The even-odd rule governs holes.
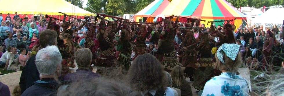
{"type": "Polygon", "coordinates": [[[207,81],[202,96],[248,96],[245,78],[236,73],[223,72],[207,81]]]}

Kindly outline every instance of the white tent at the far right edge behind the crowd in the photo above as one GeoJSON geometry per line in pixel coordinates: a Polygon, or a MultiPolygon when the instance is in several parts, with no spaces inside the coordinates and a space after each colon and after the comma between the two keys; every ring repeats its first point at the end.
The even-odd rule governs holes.
{"type": "Polygon", "coordinates": [[[281,27],[284,20],[284,8],[270,8],[263,14],[252,18],[252,25],[260,26],[263,25],[263,29],[269,27],[272,29],[273,25],[281,27]]]}

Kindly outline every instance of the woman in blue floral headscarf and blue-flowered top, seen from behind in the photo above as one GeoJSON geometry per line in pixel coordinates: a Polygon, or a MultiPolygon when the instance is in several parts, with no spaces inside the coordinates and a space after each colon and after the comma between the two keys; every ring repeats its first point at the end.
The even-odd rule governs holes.
{"type": "Polygon", "coordinates": [[[202,96],[249,95],[247,80],[236,74],[239,65],[242,64],[239,49],[240,45],[237,44],[223,44],[219,47],[215,55],[217,62],[214,67],[222,73],[206,82],[202,96]]]}

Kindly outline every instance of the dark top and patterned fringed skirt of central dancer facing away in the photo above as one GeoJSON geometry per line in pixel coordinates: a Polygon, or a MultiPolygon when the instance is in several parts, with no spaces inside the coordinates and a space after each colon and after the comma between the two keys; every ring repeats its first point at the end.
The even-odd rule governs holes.
{"type": "Polygon", "coordinates": [[[167,72],[171,72],[173,67],[176,65],[182,66],[177,59],[175,46],[172,42],[175,34],[176,32],[174,32],[174,29],[170,28],[165,30],[165,34],[163,36],[160,35],[160,40],[162,40],[162,42],[159,41],[159,43],[162,44],[161,46],[158,46],[157,53],[164,53],[164,59],[161,64],[167,72]]]}

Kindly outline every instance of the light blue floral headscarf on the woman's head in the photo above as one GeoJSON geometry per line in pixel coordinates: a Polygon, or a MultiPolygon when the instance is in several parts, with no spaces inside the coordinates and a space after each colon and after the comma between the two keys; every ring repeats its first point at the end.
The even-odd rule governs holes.
{"type": "Polygon", "coordinates": [[[226,56],[229,57],[232,60],[236,59],[236,56],[239,52],[241,45],[237,44],[223,44],[219,49],[217,50],[217,58],[225,64],[223,60],[223,52],[225,52],[226,56]]]}

